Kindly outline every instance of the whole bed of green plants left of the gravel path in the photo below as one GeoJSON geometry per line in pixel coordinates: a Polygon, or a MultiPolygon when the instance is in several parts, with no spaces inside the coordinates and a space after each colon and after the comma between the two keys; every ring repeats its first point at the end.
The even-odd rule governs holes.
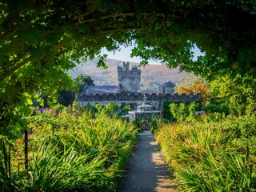
{"type": "Polygon", "coordinates": [[[1,160],[1,190],[115,191],[136,142],[134,126],[108,114],[67,108],[45,110],[26,121],[28,168],[24,141],[18,139],[6,155],[10,174],[4,169],[8,161],[1,160]]]}

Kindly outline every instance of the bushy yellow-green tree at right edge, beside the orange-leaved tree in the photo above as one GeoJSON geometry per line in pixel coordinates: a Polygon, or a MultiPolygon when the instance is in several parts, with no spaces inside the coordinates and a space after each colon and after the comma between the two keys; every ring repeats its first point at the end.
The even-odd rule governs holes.
{"type": "Polygon", "coordinates": [[[237,116],[255,113],[255,79],[246,75],[235,78],[226,76],[216,78],[210,82],[210,102],[225,104],[230,109],[230,114],[237,116]]]}

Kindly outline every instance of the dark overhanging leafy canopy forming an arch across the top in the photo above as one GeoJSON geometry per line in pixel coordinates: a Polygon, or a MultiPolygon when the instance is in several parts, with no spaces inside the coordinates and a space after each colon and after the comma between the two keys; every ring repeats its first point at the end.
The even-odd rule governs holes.
{"type": "MultiPolygon", "coordinates": [[[[57,98],[75,62],[135,40],[133,55],[206,76],[256,75],[256,2],[243,0],[0,2],[0,132],[12,137],[35,91],[57,98]],[[193,61],[197,45],[206,55],[193,61]],[[83,57],[82,57],[83,56],[83,57]]],[[[26,122],[23,123],[26,126],[26,122]]]]}

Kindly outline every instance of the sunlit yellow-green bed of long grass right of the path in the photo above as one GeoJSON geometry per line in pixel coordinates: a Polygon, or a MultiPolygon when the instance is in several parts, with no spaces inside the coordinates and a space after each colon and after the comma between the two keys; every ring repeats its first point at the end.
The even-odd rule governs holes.
{"type": "Polygon", "coordinates": [[[162,123],[155,135],[180,190],[255,191],[254,125],[254,118],[205,118],[162,123]]]}

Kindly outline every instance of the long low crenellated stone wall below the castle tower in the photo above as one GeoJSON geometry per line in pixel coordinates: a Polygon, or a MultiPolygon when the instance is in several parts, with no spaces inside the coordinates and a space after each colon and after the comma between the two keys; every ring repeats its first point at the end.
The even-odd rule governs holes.
{"type": "Polygon", "coordinates": [[[116,103],[119,106],[130,105],[132,109],[143,103],[146,96],[146,102],[155,107],[156,110],[162,110],[162,102],[196,102],[201,100],[201,94],[147,94],[147,93],[121,93],[121,94],[76,94],[76,101],[80,106],[94,106],[95,104],[106,105],[116,103]]]}

